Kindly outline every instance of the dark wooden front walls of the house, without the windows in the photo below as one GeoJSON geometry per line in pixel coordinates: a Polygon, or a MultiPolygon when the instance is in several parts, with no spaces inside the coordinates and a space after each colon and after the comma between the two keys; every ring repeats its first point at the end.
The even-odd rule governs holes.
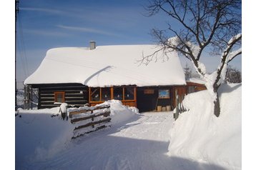
{"type": "MultiPolygon", "coordinates": [[[[190,87],[195,87],[195,91],[206,89],[202,84],[187,83],[187,86],[120,86],[134,87],[134,100],[122,100],[124,105],[136,106],[139,112],[154,111],[157,106],[171,106],[174,109],[177,103],[181,102],[184,95],[188,93],[190,87]],[[201,88],[201,89],[199,89],[201,88]],[[169,99],[158,99],[159,89],[169,90],[169,99]],[[175,92],[176,91],[176,92],[175,92]],[[176,94],[179,101],[176,101],[176,94]]],[[[99,104],[103,101],[89,102],[89,87],[82,84],[32,84],[33,88],[39,89],[38,109],[52,108],[59,106],[54,104],[54,92],[64,92],[64,101],[69,105],[84,106],[84,104],[99,104]]],[[[110,88],[111,99],[113,99],[113,87],[110,88]]]]}

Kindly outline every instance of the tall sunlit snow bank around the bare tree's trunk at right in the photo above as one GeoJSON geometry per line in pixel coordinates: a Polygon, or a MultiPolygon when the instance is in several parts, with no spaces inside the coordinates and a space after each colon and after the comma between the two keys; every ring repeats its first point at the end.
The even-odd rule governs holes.
{"type": "Polygon", "coordinates": [[[241,169],[241,90],[241,84],[220,87],[221,114],[218,118],[213,115],[207,91],[187,95],[183,104],[189,111],[181,114],[169,131],[169,155],[241,169]]]}

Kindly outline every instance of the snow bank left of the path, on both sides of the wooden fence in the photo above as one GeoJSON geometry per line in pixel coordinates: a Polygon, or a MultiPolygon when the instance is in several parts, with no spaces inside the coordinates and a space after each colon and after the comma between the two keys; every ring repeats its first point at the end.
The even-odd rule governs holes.
{"type": "MultiPolygon", "coordinates": [[[[111,124],[122,123],[138,113],[136,108],[124,106],[121,101],[112,100],[104,104],[106,103],[111,106],[111,124]]],[[[16,167],[50,159],[69,146],[76,125],[71,124],[70,120],[63,120],[59,111],[60,107],[19,109],[19,114],[15,117],[16,167]]]]}

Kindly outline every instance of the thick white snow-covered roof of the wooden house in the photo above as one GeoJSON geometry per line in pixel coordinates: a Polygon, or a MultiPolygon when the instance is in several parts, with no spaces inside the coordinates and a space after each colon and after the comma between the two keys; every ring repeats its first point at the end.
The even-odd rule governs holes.
{"type": "MultiPolygon", "coordinates": [[[[25,84],[79,83],[86,86],[156,86],[186,84],[176,52],[169,59],[139,65],[142,56],[157,51],[154,45],[63,47],[49,49],[25,84]]],[[[162,55],[159,51],[157,56],[162,55]]]]}

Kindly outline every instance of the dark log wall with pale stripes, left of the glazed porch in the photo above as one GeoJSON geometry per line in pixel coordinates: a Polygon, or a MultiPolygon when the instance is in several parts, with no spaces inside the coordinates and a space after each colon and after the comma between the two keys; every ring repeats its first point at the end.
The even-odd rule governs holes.
{"type": "Polygon", "coordinates": [[[42,84],[39,88],[38,109],[59,106],[54,104],[54,92],[64,92],[64,102],[74,106],[84,106],[88,103],[88,87],[82,84],[42,84]]]}

